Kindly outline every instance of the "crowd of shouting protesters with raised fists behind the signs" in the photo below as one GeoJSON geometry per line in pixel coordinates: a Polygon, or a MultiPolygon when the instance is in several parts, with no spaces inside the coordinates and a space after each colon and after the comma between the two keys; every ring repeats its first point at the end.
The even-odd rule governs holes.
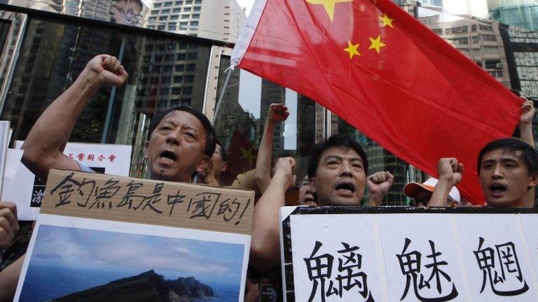
{"type": "MultiPolygon", "coordinates": [[[[76,81],[43,112],[23,146],[22,162],[46,180],[51,168],[91,171],[65,156],[62,151],[85,104],[102,87],[121,86],[127,72],[118,59],[99,55],[88,62],[76,81]]],[[[380,206],[394,176],[389,171],[368,175],[368,158],[357,141],[334,135],[312,150],[308,173],[297,179],[292,157],[277,159],[272,167],[273,132],[289,115],[282,104],[269,108],[256,160],[255,179],[261,197],[254,206],[249,275],[245,301],[259,301],[258,285],[270,287],[274,300],[281,297],[279,210],[286,205],[286,193],[298,188],[301,206],[380,206]],[[368,196],[364,194],[368,189],[368,196]]],[[[485,145],[477,154],[478,177],[485,203],[495,208],[534,206],[538,185],[538,158],[532,135],[532,101],[525,101],[520,117],[520,139],[503,138],[485,145]]],[[[177,106],[155,115],[144,145],[144,158],[153,180],[198,182],[218,186],[226,171],[226,148],[216,141],[207,117],[188,106],[177,106]]],[[[463,198],[455,187],[462,180],[464,166],[457,158],[439,159],[436,178],[412,182],[403,189],[414,206],[457,207],[463,198]]],[[[17,209],[0,202],[0,250],[13,246],[18,238],[17,209]]],[[[24,245],[2,261],[0,301],[15,294],[24,259],[24,245]],[[22,252],[21,252],[22,250],[22,252]],[[17,255],[13,257],[13,254],[17,255]]],[[[4,253],[4,256],[9,253],[4,253]]]]}

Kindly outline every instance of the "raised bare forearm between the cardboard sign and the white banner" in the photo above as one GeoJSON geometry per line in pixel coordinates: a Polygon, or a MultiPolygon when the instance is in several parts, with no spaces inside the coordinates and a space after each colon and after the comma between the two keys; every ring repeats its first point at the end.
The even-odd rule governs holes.
{"type": "Polygon", "coordinates": [[[294,186],[295,159],[278,159],[273,179],[254,206],[250,264],[258,271],[268,271],[280,261],[279,210],[285,205],[287,189],[294,186]]]}

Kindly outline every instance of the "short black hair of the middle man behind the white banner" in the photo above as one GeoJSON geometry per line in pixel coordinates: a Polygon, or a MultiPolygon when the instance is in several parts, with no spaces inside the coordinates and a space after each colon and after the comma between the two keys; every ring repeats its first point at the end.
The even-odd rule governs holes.
{"type": "Polygon", "coordinates": [[[317,164],[319,163],[319,158],[322,157],[322,153],[333,147],[344,147],[346,149],[352,148],[359,154],[362,159],[362,166],[364,167],[364,173],[368,175],[368,159],[366,158],[366,153],[362,150],[361,145],[357,143],[353,138],[347,137],[343,134],[335,134],[329,139],[324,141],[324,143],[319,143],[316,145],[314,152],[310,154],[308,158],[308,178],[313,178],[317,172],[317,164]]]}

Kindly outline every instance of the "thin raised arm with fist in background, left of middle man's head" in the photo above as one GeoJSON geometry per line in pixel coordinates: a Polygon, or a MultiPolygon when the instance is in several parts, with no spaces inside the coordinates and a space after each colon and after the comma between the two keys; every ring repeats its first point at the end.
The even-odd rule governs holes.
{"type": "Polygon", "coordinates": [[[275,127],[288,118],[288,108],[281,103],[272,103],[269,107],[260,149],[256,158],[256,183],[261,193],[265,192],[271,181],[271,157],[273,154],[273,134],[275,127]]]}

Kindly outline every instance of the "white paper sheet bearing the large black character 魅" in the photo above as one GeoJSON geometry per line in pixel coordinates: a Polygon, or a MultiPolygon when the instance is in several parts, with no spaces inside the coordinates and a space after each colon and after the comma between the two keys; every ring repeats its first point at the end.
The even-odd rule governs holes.
{"type": "Polygon", "coordinates": [[[466,301],[449,215],[378,215],[390,301],[466,301]]]}

